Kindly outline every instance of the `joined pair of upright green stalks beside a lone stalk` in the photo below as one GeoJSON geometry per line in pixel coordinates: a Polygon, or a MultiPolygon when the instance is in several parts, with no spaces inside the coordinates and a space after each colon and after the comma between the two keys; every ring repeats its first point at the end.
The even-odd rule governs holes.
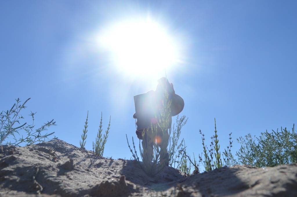
{"type": "Polygon", "coordinates": [[[93,154],[95,156],[103,156],[104,146],[107,141],[109,129],[110,129],[110,119],[111,119],[111,116],[109,117],[109,123],[108,123],[107,129],[105,130],[105,134],[103,134],[103,137],[102,137],[103,129],[102,129],[102,112],[101,112],[101,119],[100,119],[100,125],[98,129],[97,137],[96,137],[95,143],[93,142],[93,154]]]}

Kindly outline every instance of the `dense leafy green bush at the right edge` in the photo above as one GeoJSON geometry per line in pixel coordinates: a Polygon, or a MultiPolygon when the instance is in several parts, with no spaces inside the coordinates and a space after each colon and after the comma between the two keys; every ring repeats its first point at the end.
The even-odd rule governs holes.
{"type": "Polygon", "coordinates": [[[241,144],[236,152],[240,164],[257,167],[277,166],[297,161],[297,133],[294,125],[292,132],[287,128],[280,131],[262,132],[260,137],[251,134],[240,137],[241,144]]]}

